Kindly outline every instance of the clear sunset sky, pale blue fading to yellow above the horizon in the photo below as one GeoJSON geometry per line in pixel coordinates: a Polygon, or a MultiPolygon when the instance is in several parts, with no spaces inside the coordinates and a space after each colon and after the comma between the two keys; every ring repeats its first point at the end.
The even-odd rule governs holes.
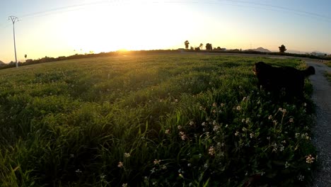
{"type": "Polygon", "coordinates": [[[0,2],[0,60],[204,45],[331,53],[330,0],[10,0],[0,2]]]}

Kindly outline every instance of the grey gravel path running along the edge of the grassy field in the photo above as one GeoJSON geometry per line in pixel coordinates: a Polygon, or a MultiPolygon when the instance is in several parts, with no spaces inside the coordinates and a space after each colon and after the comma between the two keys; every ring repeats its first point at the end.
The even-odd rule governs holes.
{"type": "Polygon", "coordinates": [[[315,174],[313,186],[331,186],[331,86],[323,74],[331,72],[325,64],[306,60],[315,67],[316,74],[310,76],[313,84],[313,101],[316,104],[316,124],[313,128],[313,143],[318,150],[320,166],[315,174]]]}

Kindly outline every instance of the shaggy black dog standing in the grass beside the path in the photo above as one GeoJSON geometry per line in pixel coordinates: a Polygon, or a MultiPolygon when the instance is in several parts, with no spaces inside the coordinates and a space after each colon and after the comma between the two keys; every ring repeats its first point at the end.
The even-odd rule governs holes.
{"type": "Polygon", "coordinates": [[[294,67],[272,67],[265,62],[255,63],[253,71],[259,80],[259,87],[277,95],[285,91],[286,98],[295,96],[300,99],[303,98],[305,77],[315,74],[315,68],[311,66],[306,70],[298,70],[294,67]]]}

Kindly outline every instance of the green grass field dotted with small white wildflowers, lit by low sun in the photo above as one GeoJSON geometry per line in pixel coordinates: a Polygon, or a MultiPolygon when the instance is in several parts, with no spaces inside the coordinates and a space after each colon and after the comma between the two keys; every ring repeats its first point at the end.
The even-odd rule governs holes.
{"type": "Polygon", "coordinates": [[[304,68],[128,55],[1,70],[0,186],[306,185],[313,104],[271,101],[260,60],[304,68]]]}

